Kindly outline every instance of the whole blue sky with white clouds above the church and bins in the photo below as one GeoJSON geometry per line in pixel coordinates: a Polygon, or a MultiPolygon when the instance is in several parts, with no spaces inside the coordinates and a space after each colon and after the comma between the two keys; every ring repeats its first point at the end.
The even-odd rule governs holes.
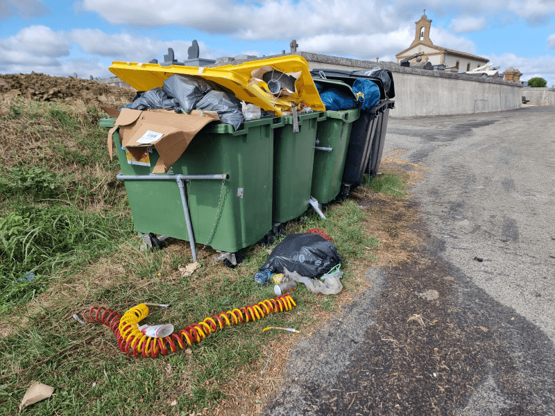
{"type": "Polygon", "coordinates": [[[0,0],[0,73],[110,76],[114,60],[300,51],[395,61],[432,19],[432,42],[555,84],[555,0],[0,0]]]}

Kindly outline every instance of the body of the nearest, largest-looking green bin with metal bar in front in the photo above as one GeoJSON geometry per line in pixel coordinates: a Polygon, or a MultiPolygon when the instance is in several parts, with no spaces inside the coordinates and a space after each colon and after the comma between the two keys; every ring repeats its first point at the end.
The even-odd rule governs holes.
{"type": "MultiPolygon", "coordinates": [[[[114,121],[103,119],[101,125],[112,127],[114,121]]],[[[225,180],[185,181],[196,243],[232,253],[257,243],[271,230],[273,128],[281,125],[280,118],[265,118],[247,121],[234,131],[231,125],[210,123],[198,132],[168,173],[154,175],[229,175],[225,180]]],[[[189,241],[176,180],[144,177],[151,175],[157,151],[148,150],[148,164],[134,160],[132,164],[119,135],[114,133],[113,137],[137,232],[189,241]],[[142,175],[145,180],[126,178],[130,175],[142,175]]]]}

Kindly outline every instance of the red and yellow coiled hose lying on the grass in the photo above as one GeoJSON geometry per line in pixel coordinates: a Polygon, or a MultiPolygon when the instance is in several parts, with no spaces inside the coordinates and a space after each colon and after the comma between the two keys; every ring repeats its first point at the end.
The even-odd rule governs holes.
{"type": "Polygon", "coordinates": [[[167,355],[168,350],[176,352],[178,347],[184,349],[192,343],[198,343],[211,333],[224,327],[232,327],[239,323],[255,321],[275,312],[290,311],[296,306],[291,295],[282,295],[273,299],[266,299],[254,305],[244,306],[209,316],[198,324],[187,325],[178,333],[172,333],[165,338],[152,338],[139,331],[138,323],[148,315],[148,306],[139,304],[119,315],[112,309],[94,306],[83,313],[87,322],[102,322],[109,327],[116,336],[121,351],[133,354],[135,357],[156,358],[160,352],[167,355]]]}

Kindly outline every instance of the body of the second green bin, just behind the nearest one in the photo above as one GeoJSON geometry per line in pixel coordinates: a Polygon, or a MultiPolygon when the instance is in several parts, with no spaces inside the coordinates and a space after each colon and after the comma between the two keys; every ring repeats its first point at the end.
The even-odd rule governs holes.
{"type": "Polygon", "coordinates": [[[301,216],[309,206],[312,165],[318,121],[326,112],[298,115],[299,132],[293,132],[293,116],[282,117],[284,126],[274,130],[273,221],[285,223],[301,216]]]}

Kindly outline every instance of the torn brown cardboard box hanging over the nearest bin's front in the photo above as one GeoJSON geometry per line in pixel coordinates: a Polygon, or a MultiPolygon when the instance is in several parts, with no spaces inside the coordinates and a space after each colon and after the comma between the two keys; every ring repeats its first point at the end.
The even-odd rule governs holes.
{"type": "Polygon", "coordinates": [[[117,117],[108,133],[108,150],[113,158],[112,135],[119,128],[121,146],[141,159],[148,148],[155,148],[160,155],[153,173],[166,173],[185,152],[191,140],[208,123],[219,121],[214,112],[191,111],[177,114],[168,110],[130,110],[103,108],[112,117],[117,117]]]}

